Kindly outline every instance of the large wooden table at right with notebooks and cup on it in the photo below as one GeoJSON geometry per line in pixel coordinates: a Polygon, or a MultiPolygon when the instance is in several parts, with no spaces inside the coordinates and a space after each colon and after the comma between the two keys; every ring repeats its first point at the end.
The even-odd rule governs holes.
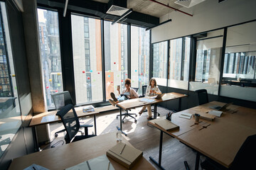
{"type": "MultiPolygon", "coordinates": [[[[161,168],[161,147],[163,132],[183,142],[185,145],[195,149],[196,169],[199,167],[200,154],[213,159],[215,162],[230,167],[242,146],[242,143],[250,135],[256,134],[256,110],[241,106],[229,106],[227,111],[224,111],[220,118],[216,117],[213,121],[203,120],[198,125],[193,125],[194,118],[187,120],[178,118],[181,113],[206,113],[213,109],[210,106],[223,106],[225,103],[213,101],[202,106],[189,108],[185,111],[174,113],[172,122],[180,126],[179,130],[166,131],[154,123],[154,120],[149,121],[151,125],[160,130],[160,145],[159,145],[159,162],[153,161],[161,168]],[[207,128],[200,130],[203,125],[209,125],[207,128]]],[[[152,159],[150,157],[150,159],[152,159]]]]}

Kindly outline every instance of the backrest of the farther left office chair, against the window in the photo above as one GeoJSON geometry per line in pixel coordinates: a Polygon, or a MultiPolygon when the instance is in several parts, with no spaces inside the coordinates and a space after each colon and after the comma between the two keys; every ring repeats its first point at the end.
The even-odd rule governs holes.
{"type": "Polygon", "coordinates": [[[55,105],[56,110],[60,110],[68,104],[74,105],[73,100],[68,91],[63,91],[58,94],[51,94],[51,96],[53,98],[53,103],[55,105]]]}

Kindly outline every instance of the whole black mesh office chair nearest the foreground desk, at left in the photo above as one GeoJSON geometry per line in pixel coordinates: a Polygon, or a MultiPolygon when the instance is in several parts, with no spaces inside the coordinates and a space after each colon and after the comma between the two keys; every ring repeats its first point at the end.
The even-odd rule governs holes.
{"type": "Polygon", "coordinates": [[[75,113],[75,109],[72,104],[68,104],[62,108],[56,115],[60,116],[65,127],[65,131],[67,132],[65,135],[66,143],[84,140],[86,138],[95,136],[88,135],[88,128],[92,127],[92,125],[80,125],[78,115],[75,113]],[[80,128],[85,128],[85,135],[75,136],[80,128]]]}

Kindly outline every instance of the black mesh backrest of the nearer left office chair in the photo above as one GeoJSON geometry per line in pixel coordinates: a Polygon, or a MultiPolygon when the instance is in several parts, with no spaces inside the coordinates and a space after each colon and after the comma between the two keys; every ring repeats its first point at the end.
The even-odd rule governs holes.
{"type": "Polygon", "coordinates": [[[70,143],[73,140],[73,137],[78,133],[80,128],[80,123],[78,120],[78,115],[75,113],[75,109],[72,104],[68,104],[60,111],[57,112],[58,116],[60,116],[61,121],[65,127],[67,134],[65,135],[66,143],[70,143]]]}

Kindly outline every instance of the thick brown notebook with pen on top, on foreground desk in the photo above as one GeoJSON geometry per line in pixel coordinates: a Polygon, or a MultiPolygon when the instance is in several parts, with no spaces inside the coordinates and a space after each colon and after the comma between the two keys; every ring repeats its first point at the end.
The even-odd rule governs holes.
{"type": "Polygon", "coordinates": [[[127,169],[132,168],[137,163],[143,152],[134,147],[124,144],[123,142],[117,143],[114,147],[107,151],[107,157],[114,159],[114,161],[122,164],[127,169]]]}

